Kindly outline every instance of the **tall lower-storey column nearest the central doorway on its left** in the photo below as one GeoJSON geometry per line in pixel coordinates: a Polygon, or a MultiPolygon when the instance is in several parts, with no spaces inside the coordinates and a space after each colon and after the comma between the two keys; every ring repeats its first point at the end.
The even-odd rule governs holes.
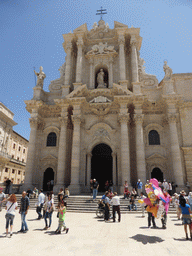
{"type": "MultiPolygon", "coordinates": [[[[80,108],[80,106],[78,106],[80,108]]],[[[71,185],[70,191],[73,194],[80,193],[79,172],[80,172],[80,131],[81,131],[81,117],[75,114],[73,110],[73,144],[71,157],[71,185]]]]}

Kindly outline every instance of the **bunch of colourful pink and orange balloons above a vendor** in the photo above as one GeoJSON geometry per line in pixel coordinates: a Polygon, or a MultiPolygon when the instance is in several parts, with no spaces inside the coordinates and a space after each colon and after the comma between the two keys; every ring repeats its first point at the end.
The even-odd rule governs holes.
{"type": "Polygon", "coordinates": [[[158,180],[150,179],[149,184],[145,185],[145,191],[148,197],[138,202],[147,205],[148,212],[151,212],[155,218],[161,217],[164,209],[166,213],[168,212],[170,196],[161,190],[158,180]]]}

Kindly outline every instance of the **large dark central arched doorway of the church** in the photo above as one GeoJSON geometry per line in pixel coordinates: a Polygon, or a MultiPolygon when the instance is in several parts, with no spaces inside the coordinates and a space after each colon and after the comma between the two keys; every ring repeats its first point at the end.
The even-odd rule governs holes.
{"type": "Polygon", "coordinates": [[[104,143],[98,144],[92,150],[91,178],[99,182],[99,191],[105,191],[106,180],[113,181],[111,153],[111,148],[104,143]]]}

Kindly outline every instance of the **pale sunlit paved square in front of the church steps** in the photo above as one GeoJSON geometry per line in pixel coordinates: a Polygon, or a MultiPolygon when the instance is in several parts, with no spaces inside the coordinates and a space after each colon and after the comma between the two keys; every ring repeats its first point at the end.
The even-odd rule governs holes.
{"type": "MultiPolygon", "coordinates": [[[[185,240],[184,229],[176,215],[168,215],[168,228],[148,229],[147,217],[122,214],[120,223],[105,223],[93,213],[66,214],[69,233],[55,235],[58,219],[53,214],[51,230],[43,230],[44,220],[36,220],[30,210],[27,215],[29,231],[20,230],[20,216],[14,220],[12,238],[5,237],[5,210],[0,213],[0,255],[192,255],[192,241],[185,240]]],[[[146,215],[147,216],[147,215],[146,215]]],[[[156,221],[161,227],[160,220],[156,221]]]]}

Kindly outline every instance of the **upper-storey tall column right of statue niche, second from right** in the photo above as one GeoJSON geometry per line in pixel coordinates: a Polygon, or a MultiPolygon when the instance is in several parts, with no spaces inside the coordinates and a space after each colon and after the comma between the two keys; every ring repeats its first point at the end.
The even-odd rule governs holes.
{"type": "Polygon", "coordinates": [[[125,37],[124,35],[119,35],[119,71],[120,71],[120,80],[125,80],[125,37]]]}

